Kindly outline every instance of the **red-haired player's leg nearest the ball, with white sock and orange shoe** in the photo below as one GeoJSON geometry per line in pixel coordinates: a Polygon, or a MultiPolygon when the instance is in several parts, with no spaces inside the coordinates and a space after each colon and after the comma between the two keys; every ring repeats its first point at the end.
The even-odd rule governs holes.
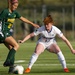
{"type": "Polygon", "coordinates": [[[38,56],[44,51],[44,47],[42,44],[38,44],[36,46],[36,49],[35,49],[35,53],[32,55],[31,59],[30,59],[30,62],[29,62],[29,65],[28,65],[28,68],[25,70],[25,73],[29,73],[33,64],[36,62],[36,60],[38,59],[38,56]]]}

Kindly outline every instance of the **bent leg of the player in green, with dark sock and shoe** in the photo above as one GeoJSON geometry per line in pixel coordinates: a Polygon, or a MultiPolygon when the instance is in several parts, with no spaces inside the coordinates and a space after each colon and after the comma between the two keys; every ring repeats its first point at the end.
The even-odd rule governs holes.
{"type": "Polygon", "coordinates": [[[15,53],[16,50],[18,49],[18,44],[16,43],[16,41],[13,39],[12,36],[7,37],[5,39],[5,46],[10,50],[8,53],[8,56],[6,58],[6,61],[4,62],[4,66],[12,66],[14,65],[14,60],[15,60],[15,53]]]}

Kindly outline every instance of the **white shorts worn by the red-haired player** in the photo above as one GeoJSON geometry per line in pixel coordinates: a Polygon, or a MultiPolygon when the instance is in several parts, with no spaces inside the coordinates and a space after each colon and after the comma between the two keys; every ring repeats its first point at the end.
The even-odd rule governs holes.
{"type": "Polygon", "coordinates": [[[57,43],[55,39],[51,39],[49,42],[44,42],[41,39],[39,39],[37,44],[42,44],[44,49],[49,49],[52,44],[57,44],[57,43]]]}

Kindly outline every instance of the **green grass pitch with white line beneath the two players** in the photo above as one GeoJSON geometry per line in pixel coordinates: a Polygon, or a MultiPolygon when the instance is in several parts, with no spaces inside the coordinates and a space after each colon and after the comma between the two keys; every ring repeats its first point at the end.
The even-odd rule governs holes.
{"type": "MultiPolygon", "coordinates": [[[[75,48],[75,43],[71,42],[75,48]]],[[[26,42],[24,44],[19,44],[20,48],[16,53],[15,65],[23,65],[24,68],[27,68],[29,59],[33,54],[35,49],[34,42],[26,42]]],[[[70,73],[64,73],[62,66],[57,58],[57,55],[49,53],[45,50],[42,53],[37,62],[33,65],[32,70],[29,74],[23,75],[75,75],[75,55],[73,55],[67,45],[63,42],[58,42],[67,62],[67,67],[70,70],[70,73]]],[[[3,67],[3,62],[6,59],[8,50],[4,45],[0,45],[0,75],[10,75],[8,74],[8,67],[3,67]]],[[[11,74],[14,75],[14,74],[11,74]]]]}

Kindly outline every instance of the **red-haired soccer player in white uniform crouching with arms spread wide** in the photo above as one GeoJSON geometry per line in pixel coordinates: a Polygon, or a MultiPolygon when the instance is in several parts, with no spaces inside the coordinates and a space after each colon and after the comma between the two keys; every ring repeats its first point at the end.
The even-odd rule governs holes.
{"type": "Polygon", "coordinates": [[[27,35],[23,40],[19,40],[20,43],[23,43],[29,38],[41,34],[37,42],[35,51],[29,62],[28,68],[25,70],[25,73],[30,72],[38,56],[42,52],[44,52],[45,49],[47,49],[49,52],[57,54],[58,59],[63,66],[64,72],[69,72],[66,66],[64,55],[62,54],[59,46],[57,45],[55,41],[55,36],[57,35],[58,37],[60,37],[68,45],[68,47],[70,48],[73,54],[75,53],[75,50],[73,49],[72,45],[67,40],[67,38],[63,35],[63,33],[56,26],[53,25],[53,19],[51,15],[47,16],[43,22],[44,22],[44,26],[41,26],[39,29],[35,30],[33,33],[27,35]]]}

